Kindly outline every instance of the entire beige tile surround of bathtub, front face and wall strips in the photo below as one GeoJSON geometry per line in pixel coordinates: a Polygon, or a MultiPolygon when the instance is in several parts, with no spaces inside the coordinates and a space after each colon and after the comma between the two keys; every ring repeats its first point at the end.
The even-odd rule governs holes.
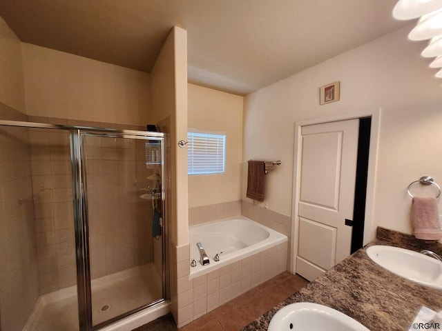
{"type": "MultiPolygon", "coordinates": [[[[189,208],[189,225],[239,214],[287,237],[290,236],[289,217],[246,201],[229,201],[189,208]]],[[[173,262],[174,259],[171,260],[171,310],[178,327],[195,321],[287,270],[289,241],[191,280],[189,280],[189,245],[180,248],[171,245],[171,252],[177,255],[176,263],[173,262]],[[280,257],[279,263],[276,259],[266,259],[269,254],[280,257]],[[172,281],[173,279],[177,281],[172,281]]]]}

